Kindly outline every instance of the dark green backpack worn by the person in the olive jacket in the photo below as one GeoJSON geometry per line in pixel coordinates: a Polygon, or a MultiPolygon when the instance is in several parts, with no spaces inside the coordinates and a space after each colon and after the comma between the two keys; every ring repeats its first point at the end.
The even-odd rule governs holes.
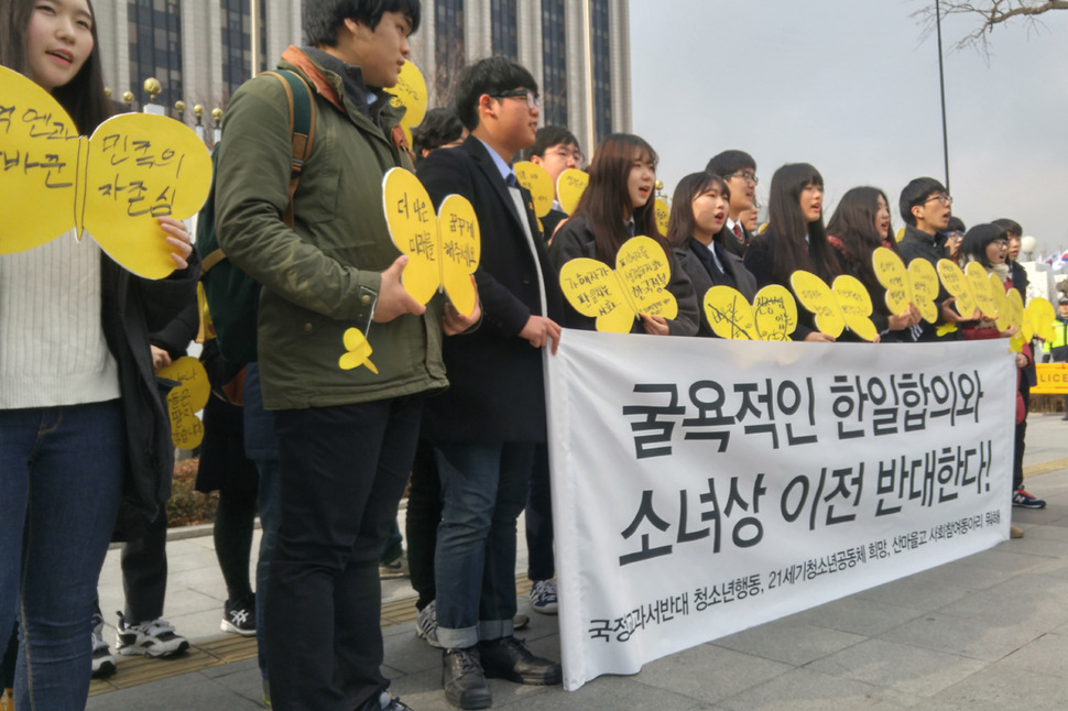
{"type": "MultiPolygon", "coordinates": [[[[293,228],[293,195],[312,154],[315,138],[315,98],[312,88],[293,72],[264,72],[282,83],[290,103],[290,134],[293,138],[293,167],[290,173],[290,204],[282,220],[293,228]]],[[[206,338],[218,340],[219,352],[231,363],[257,360],[255,328],[260,304],[260,283],[242,272],[219,248],[215,223],[215,168],[219,162],[219,144],[211,151],[211,190],[197,218],[196,245],[201,254],[200,282],[208,302],[210,318],[206,338]]]]}

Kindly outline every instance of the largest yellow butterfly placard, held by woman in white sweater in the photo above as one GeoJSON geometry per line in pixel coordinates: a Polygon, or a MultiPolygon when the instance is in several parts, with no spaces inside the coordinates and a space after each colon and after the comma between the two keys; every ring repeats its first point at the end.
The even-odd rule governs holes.
{"type": "Polygon", "coordinates": [[[108,119],[91,138],[52,96],[0,67],[0,254],[51,242],[74,228],[148,278],[174,271],[157,217],[200,209],[211,156],[188,127],[149,113],[108,119]]]}

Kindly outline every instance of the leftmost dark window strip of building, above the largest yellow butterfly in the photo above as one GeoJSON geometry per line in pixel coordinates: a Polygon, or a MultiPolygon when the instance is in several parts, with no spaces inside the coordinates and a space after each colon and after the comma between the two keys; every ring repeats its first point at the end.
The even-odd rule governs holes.
{"type": "MultiPolygon", "coordinates": [[[[167,107],[182,98],[182,10],[177,0],[127,3],[130,28],[130,89],[144,91],[155,77],[163,91],[156,101],[167,107]]],[[[148,100],[148,98],[145,98],[148,100]]]]}

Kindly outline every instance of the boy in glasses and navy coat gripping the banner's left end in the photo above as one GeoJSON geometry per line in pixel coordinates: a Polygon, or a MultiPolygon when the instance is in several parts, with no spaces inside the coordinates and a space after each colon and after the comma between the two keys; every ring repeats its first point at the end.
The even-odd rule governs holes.
{"type": "Polygon", "coordinates": [[[475,207],[484,318],[478,331],[444,346],[450,387],[427,402],[422,434],[442,478],[442,686],[453,705],[484,709],[492,703],[487,677],[555,685],[563,676],[559,664],[534,656],[512,634],[515,519],[546,437],[542,349],[556,351],[563,304],[531,195],[511,167],[512,156],[534,143],[534,77],[510,59],[482,59],[460,75],[456,107],[471,135],[427,156],[418,176],[436,205],[456,193],[475,207]]]}

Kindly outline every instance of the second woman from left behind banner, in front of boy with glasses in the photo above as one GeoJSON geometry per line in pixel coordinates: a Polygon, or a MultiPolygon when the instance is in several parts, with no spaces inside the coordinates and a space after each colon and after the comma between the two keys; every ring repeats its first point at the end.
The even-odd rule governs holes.
{"type": "MultiPolygon", "coordinates": [[[[667,241],[675,250],[679,267],[694,285],[697,304],[712,286],[737,288],[750,303],[756,296],[756,280],[742,258],[723,247],[730,187],[718,175],[690,173],[675,187],[672,212],[667,222],[667,241]]],[[[715,336],[701,314],[699,336],[715,336]]]]}

